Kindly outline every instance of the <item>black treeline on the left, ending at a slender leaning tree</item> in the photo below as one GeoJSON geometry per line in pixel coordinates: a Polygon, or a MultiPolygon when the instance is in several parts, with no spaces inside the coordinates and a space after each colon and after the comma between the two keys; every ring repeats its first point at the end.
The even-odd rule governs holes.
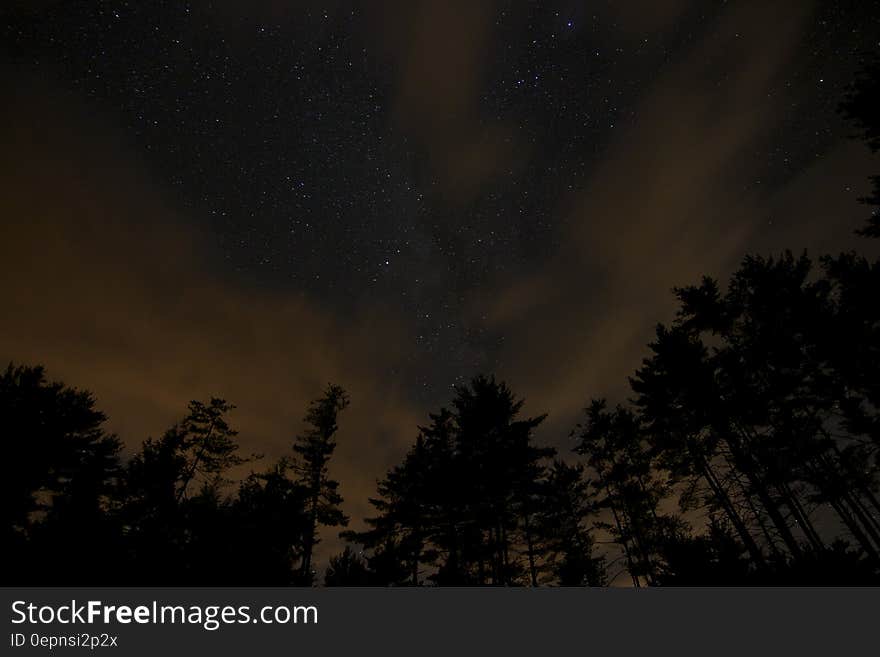
{"type": "Polygon", "coordinates": [[[290,455],[238,482],[222,399],[193,401],[129,459],[91,394],[42,367],[0,377],[4,584],[311,585],[321,525],[345,525],[328,475],[337,415],[328,386],[290,455]],[[230,492],[231,491],[231,492],[230,492]]]}

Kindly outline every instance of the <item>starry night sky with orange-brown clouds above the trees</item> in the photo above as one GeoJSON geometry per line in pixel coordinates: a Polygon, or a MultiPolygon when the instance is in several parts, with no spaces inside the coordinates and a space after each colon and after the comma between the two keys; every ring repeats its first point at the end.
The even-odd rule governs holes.
{"type": "Polygon", "coordinates": [[[131,447],[214,394],[277,456],[337,382],[355,520],[480,372],[566,450],[673,286],[876,251],[872,4],[4,3],[0,359],[131,447]]]}

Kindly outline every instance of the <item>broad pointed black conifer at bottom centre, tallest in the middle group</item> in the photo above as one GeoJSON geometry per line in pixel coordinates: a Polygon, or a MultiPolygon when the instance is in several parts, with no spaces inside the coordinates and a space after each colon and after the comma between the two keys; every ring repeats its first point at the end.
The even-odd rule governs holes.
{"type": "Polygon", "coordinates": [[[494,378],[456,392],[379,482],[370,529],[344,536],[370,550],[385,584],[537,585],[544,461],[554,454],[532,444],[544,416],[519,419],[523,401],[494,378]]]}

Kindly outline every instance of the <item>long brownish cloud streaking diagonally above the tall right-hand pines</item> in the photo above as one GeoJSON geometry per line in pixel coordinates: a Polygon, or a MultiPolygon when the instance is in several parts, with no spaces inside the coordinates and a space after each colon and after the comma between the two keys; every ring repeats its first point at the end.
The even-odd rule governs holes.
{"type": "MultiPolygon", "coordinates": [[[[655,323],[671,319],[673,286],[723,277],[763,244],[773,203],[794,210],[771,203],[743,163],[784,116],[768,92],[809,13],[790,3],[729,8],[646,89],[586,188],[560,201],[564,246],[472,299],[506,336],[502,372],[551,409],[558,436],[589,397],[625,398],[655,323]]],[[[787,237],[783,246],[797,248],[787,237]]]]}

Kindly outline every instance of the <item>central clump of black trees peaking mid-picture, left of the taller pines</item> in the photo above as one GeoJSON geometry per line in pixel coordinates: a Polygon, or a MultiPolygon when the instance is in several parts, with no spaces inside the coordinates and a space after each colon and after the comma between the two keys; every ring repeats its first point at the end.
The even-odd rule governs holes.
{"type": "Polygon", "coordinates": [[[583,468],[551,462],[555,450],[533,444],[545,416],[520,418],[523,402],[494,379],[457,393],[379,482],[370,529],[344,534],[367,548],[366,561],[351,551],[335,558],[330,581],[603,584],[583,468]]]}

